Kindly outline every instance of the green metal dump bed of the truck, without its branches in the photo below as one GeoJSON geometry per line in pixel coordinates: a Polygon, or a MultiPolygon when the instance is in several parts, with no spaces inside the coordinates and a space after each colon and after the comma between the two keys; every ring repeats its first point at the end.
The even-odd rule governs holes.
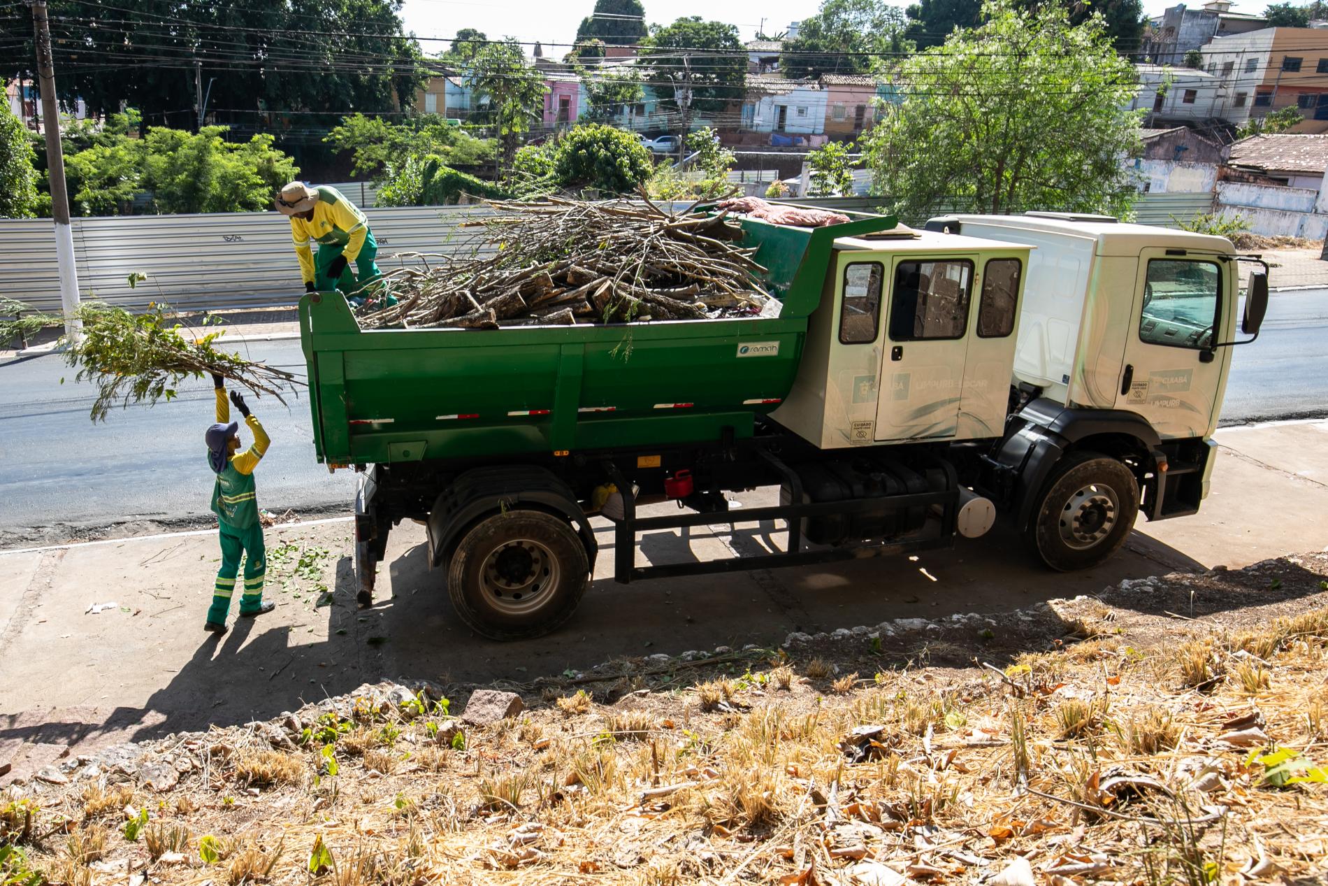
{"type": "Polygon", "coordinates": [[[361,329],[345,299],[300,300],[320,462],[390,464],[716,440],[752,434],[788,395],[834,239],[895,226],[863,215],[821,228],[744,219],[770,270],[773,319],[361,329]]]}

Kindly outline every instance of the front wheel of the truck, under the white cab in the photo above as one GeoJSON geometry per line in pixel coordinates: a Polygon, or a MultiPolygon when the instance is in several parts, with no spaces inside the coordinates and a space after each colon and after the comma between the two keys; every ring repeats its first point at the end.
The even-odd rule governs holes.
{"type": "Polygon", "coordinates": [[[1129,468],[1096,452],[1072,453],[1046,482],[1025,537],[1052,569],[1089,569],[1125,543],[1138,513],[1129,468]]]}

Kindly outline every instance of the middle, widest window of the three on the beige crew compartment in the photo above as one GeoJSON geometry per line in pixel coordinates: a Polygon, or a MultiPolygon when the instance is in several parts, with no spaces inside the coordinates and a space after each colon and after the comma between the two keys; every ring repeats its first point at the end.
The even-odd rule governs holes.
{"type": "Polygon", "coordinates": [[[972,288],[972,262],[900,262],[890,294],[890,337],[961,339],[968,328],[972,288]]]}

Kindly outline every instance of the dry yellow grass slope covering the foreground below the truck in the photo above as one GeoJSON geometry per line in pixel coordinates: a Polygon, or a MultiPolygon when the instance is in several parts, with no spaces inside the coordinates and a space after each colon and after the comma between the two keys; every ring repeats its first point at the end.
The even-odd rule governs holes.
{"type": "MultiPolygon", "coordinates": [[[[159,797],[137,843],[108,838],[88,812],[110,792],[50,790],[35,830],[73,824],[31,851],[61,886],[110,883],[102,863],[142,870],[182,845],[193,866],[154,865],[161,886],[311,882],[320,837],[332,853],[323,886],[853,886],[859,859],[965,883],[1016,855],[1038,886],[1317,882],[1328,785],[1274,786],[1252,756],[1263,740],[1219,736],[1258,721],[1305,770],[1328,768],[1328,610],[1235,636],[1187,627],[1155,651],[1104,639],[1021,656],[1004,679],[914,664],[866,684],[846,676],[830,693],[785,665],[768,680],[716,668],[623,707],[562,696],[467,728],[456,751],[418,719],[396,724],[394,749],[352,753],[347,740],[382,735],[369,717],[340,737],[339,774],[317,784],[301,774],[252,797],[214,757],[210,782],[190,773],[159,797]],[[223,858],[201,866],[190,833],[220,840],[223,858]]],[[[262,753],[235,747],[236,772],[256,772],[262,753]]],[[[316,748],[287,756],[301,773],[319,766],[316,748]]]]}

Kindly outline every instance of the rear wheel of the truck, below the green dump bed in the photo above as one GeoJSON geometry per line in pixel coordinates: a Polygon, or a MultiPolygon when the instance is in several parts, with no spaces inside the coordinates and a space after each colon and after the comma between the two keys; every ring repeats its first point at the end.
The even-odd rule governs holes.
{"type": "Polygon", "coordinates": [[[586,594],[590,561],[562,517],[511,510],[479,521],[448,565],[457,615],[491,640],[543,636],[571,618],[586,594]]]}

